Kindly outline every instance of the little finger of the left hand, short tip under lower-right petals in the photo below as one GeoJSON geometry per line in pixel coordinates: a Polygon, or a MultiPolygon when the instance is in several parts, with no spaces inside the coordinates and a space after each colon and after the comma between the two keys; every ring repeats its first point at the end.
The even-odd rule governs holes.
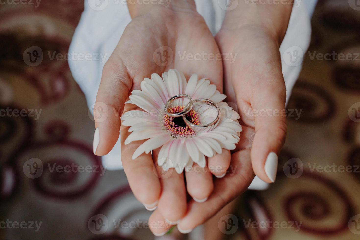
{"type": "Polygon", "coordinates": [[[208,158],[210,172],[215,177],[224,177],[230,166],[230,160],[230,150],[222,149],[221,154],[215,154],[213,157],[208,158]]]}

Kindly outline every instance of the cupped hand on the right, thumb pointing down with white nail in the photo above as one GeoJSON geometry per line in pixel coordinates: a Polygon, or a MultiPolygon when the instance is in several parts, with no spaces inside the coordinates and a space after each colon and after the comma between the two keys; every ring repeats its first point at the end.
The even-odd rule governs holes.
{"type": "MultiPolygon", "coordinates": [[[[237,149],[231,154],[229,173],[214,181],[214,190],[204,203],[189,202],[188,213],[178,228],[190,231],[207,221],[242,194],[255,174],[275,181],[278,158],[285,139],[285,84],[279,42],[266,28],[246,25],[233,31],[222,28],[216,36],[223,56],[224,93],[240,115],[243,126],[237,149]]],[[[229,104],[232,105],[232,104],[229,104]]]]}

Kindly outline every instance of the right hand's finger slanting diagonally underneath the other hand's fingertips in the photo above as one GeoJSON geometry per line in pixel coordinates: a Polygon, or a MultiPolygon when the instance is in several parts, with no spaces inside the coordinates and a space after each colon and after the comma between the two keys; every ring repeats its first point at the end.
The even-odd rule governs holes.
{"type": "Polygon", "coordinates": [[[231,155],[231,165],[234,166],[234,174],[216,178],[214,190],[207,201],[204,203],[189,201],[188,212],[177,224],[181,233],[189,233],[198,225],[206,222],[247,189],[254,178],[250,163],[250,150],[245,149],[231,155]]]}

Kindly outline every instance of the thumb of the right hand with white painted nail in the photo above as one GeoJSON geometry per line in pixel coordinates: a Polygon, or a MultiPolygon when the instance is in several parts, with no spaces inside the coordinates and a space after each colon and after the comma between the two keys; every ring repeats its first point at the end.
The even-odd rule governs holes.
{"type": "Polygon", "coordinates": [[[278,154],[286,136],[286,91],[280,74],[254,90],[251,103],[255,117],[251,163],[255,174],[268,183],[275,181],[278,154]]]}

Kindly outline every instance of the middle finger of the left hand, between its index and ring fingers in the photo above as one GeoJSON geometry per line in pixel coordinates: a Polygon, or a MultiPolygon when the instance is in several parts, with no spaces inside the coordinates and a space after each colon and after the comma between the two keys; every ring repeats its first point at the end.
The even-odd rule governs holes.
{"type": "MultiPolygon", "coordinates": [[[[153,151],[153,158],[158,158],[159,149],[153,151]]],[[[186,212],[186,189],[183,173],[178,174],[175,168],[170,168],[165,174],[157,167],[162,193],[158,209],[168,223],[175,225],[186,212]]]]}

